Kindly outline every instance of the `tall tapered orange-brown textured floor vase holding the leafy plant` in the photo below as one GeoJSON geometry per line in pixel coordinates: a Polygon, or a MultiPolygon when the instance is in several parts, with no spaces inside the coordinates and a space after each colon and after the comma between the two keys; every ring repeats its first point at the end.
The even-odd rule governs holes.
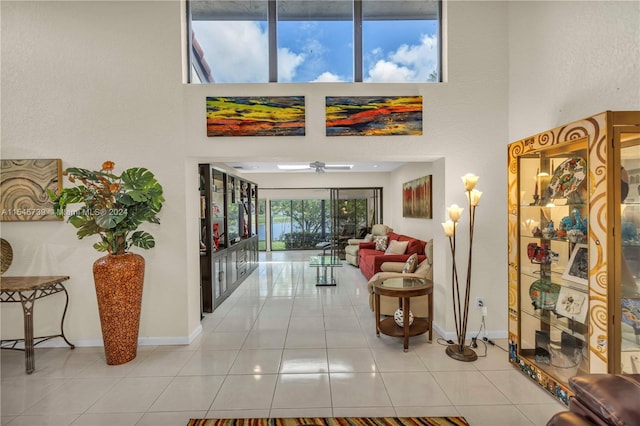
{"type": "Polygon", "coordinates": [[[134,359],[144,282],[144,258],[139,254],[108,254],[93,263],[104,353],[108,365],[134,359]]]}

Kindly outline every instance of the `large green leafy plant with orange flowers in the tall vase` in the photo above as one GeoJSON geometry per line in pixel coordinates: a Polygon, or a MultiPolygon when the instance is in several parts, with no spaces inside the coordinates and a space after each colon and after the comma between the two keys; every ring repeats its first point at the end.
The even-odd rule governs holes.
{"type": "Polygon", "coordinates": [[[101,241],[93,247],[110,254],[126,253],[129,247],[155,247],[153,236],[138,231],[144,222],[159,224],[158,212],[164,197],[162,186],[153,173],[133,167],[113,173],[115,163],[105,161],[99,171],[70,167],[63,172],[69,182],[78,186],[64,188],[60,194],[48,190],[57,217],[68,216],[79,239],[99,235],[101,241]],[[77,210],[68,206],[81,204],[77,210]]]}

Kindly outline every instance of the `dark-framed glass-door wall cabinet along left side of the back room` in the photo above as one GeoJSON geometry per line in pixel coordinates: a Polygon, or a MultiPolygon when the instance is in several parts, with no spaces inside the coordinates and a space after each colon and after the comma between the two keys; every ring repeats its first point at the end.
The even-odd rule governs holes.
{"type": "Polygon", "coordinates": [[[258,266],[258,186],[200,164],[202,311],[213,312],[258,266]]]}

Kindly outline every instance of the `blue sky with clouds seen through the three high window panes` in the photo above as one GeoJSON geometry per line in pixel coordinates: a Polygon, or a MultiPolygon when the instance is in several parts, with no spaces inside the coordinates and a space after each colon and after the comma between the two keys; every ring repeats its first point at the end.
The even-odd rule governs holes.
{"type": "MultiPolygon", "coordinates": [[[[266,22],[194,21],[217,82],[266,82],[266,22]]],[[[282,82],[353,81],[350,21],[278,23],[282,82]]],[[[427,81],[437,66],[436,21],[365,21],[364,80],[427,81]]]]}

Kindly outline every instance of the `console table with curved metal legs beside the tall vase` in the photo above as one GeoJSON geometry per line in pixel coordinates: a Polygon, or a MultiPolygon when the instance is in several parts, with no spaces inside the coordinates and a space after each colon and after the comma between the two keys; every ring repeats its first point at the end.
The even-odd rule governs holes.
{"type": "Polygon", "coordinates": [[[34,347],[46,340],[55,337],[62,337],[71,349],[75,348],[64,335],[64,317],[67,314],[69,306],[69,293],[62,284],[69,277],[0,277],[0,302],[22,304],[22,312],[24,314],[24,339],[1,340],[0,348],[24,350],[25,366],[27,374],[31,374],[35,369],[34,347]],[[60,321],[60,334],[51,336],[33,336],[33,305],[38,299],[50,296],[52,294],[64,292],[66,300],[64,303],[64,311],[62,312],[62,320],[60,321]],[[19,342],[24,342],[24,349],[17,348],[19,342]],[[35,343],[34,343],[35,342],[35,343]]]}

